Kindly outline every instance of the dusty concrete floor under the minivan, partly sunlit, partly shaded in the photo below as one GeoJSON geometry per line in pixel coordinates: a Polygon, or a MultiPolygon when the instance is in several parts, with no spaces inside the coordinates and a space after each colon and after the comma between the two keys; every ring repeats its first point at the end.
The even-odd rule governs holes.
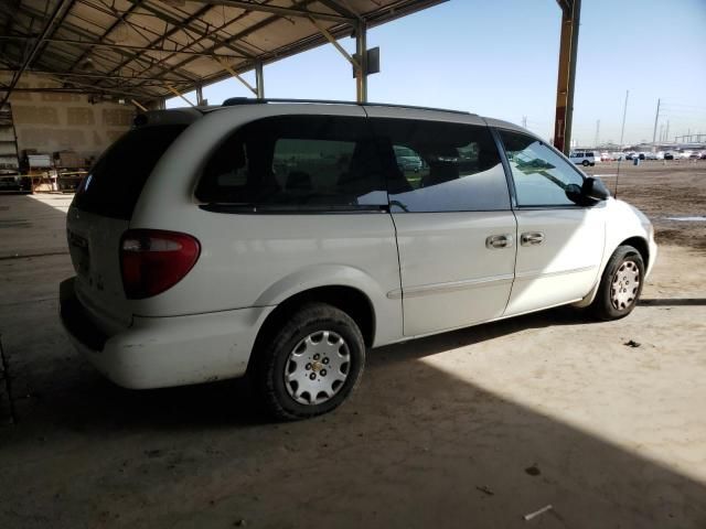
{"type": "Polygon", "coordinates": [[[0,196],[0,528],[706,527],[704,252],[663,246],[625,320],[377,349],[347,404],[271,424],[243,382],[128,391],[73,350],[69,199],[0,196]]]}

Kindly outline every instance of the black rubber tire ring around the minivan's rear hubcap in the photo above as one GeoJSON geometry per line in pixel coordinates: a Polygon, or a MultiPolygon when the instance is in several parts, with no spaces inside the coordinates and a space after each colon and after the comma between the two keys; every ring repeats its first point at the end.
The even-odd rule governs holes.
{"type": "MultiPolygon", "coordinates": [[[[365,343],[361,330],[345,312],[324,303],[302,306],[255,354],[255,388],[266,411],[278,420],[307,419],[338,408],[357,387],[365,366],[365,343]],[[290,365],[289,357],[304,338],[324,331],[335,333],[344,341],[350,358],[346,378],[328,400],[321,403],[301,403],[290,395],[285,380],[286,369],[290,365]]],[[[322,373],[325,376],[323,370],[317,371],[314,376],[322,380],[322,373]]]]}

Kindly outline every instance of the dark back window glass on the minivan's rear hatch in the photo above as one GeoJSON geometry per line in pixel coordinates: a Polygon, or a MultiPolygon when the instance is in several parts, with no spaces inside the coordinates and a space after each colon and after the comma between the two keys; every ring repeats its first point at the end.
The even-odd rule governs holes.
{"type": "Polygon", "coordinates": [[[98,159],[73,205],[84,212],[129,220],[152,169],[185,128],[170,125],[130,130],[98,159]]]}

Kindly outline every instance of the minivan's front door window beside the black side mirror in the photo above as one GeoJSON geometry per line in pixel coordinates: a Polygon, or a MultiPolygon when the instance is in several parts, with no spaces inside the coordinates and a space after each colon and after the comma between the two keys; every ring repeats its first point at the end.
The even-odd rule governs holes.
{"type": "MultiPolygon", "coordinates": [[[[542,141],[517,132],[501,131],[515,182],[518,206],[575,206],[566,196],[568,184],[584,177],[542,141]]],[[[582,153],[576,153],[582,154],[582,153]]]]}

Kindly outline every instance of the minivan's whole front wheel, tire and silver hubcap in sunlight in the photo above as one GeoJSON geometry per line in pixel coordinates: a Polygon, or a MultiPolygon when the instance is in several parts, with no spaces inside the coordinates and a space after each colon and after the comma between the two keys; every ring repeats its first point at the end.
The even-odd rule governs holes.
{"type": "Polygon", "coordinates": [[[619,246],[598,287],[591,310],[599,320],[625,317],[635,307],[644,281],[644,261],[632,246],[619,246]]]}

